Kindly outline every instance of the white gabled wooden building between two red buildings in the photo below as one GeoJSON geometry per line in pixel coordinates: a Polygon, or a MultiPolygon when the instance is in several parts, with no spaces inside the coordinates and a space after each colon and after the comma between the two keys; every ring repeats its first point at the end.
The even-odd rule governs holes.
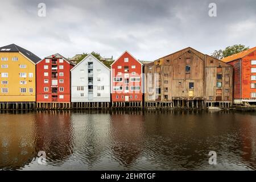
{"type": "Polygon", "coordinates": [[[71,69],[71,102],[110,102],[110,69],[91,54],[71,69]]]}

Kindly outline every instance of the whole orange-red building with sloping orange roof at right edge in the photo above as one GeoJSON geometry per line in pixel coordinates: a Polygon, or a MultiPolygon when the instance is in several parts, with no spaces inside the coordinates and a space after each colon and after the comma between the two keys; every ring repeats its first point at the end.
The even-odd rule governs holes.
{"type": "Polygon", "coordinates": [[[234,104],[256,102],[256,47],[222,59],[234,68],[234,104]]]}

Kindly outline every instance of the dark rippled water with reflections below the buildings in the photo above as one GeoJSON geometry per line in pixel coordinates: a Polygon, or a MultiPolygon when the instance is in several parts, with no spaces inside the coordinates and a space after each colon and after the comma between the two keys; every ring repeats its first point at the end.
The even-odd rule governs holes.
{"type": "Polygon", "coordinates": [[[0,114],[0,169],[255,170],[256,113],[0,114]],[[46,152],[46,165],[38,152],[46,152]],[[217,152],[217,165],[208,163],[217,152]]]}

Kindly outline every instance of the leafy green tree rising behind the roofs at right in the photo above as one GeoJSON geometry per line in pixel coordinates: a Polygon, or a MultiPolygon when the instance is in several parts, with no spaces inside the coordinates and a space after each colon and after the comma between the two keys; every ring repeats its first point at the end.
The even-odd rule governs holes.
{"type": "Polygon", "coordinates": [[[247,49],[249,49],[249,47],[245,47],[245,45],[234,44],[233,46],[226,47],[224,50],[221,50],[221,49],[218,51],[215,50],[212,53],[212,56],[215,57],[216,59],[222,59],[224,57],[228,57],[228,56],[234,55],[236,53],[240,53],[247,49]]]}

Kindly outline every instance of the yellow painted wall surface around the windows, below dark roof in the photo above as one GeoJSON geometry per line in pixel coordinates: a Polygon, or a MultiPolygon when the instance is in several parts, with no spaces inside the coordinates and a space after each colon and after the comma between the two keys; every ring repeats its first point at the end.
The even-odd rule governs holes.
{"type": "Polygon", "coordinates": [[[36,101],[36,69],[35,64],[28,60],[19,52],[0,52],[0,102],[35,102],[36,101]],[[2,61],[2,57],[8,57],[8,61],[2,61]],[[13,61],[13,57],[18,57],[18,61],[13,61]],[[8,68],[2,68],[2,64],[7,64],[8,68]],[[20,68],[20,64],[26,64],[26,68],[20,68]],[[8,78],[2,78],[2,73],[8,73],[8,78]],[[26,78],[20,78],[19,73],[27,73],[26,78]],[[28,73],[33,73],[29,78],[28,73]],[[8,85],[3,85],[2,81],[9,81],[8,85]],[[27,81],[26,85],[20,85],[20,81],[27,81]],[[8,88],[9,93],[2,93],[2,88],[8,88]],[[20,88],[26,88],[26,93],[20,93],[20,88]],[[29,93],[29,88],[33,88],[33,93],[29,93]]]}

